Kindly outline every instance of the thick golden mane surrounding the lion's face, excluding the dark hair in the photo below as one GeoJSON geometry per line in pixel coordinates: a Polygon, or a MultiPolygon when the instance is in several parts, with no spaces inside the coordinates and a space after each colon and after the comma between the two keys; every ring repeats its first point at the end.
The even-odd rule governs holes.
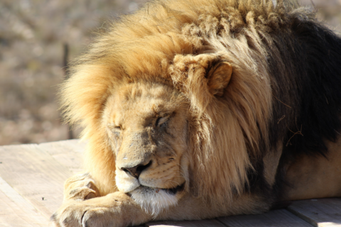
{"type": "MultiPolygon", "coordinates": [[[[86,167],[101,194],[117,190],[115,157],[102,123],[104,104],[120,84],[138,81],[167,84],[190,102],[190,192],[213,202],[242,194],[249,172],[273,149],[269,124],[278,121],[273,104],[279,99],[272,89],[291,86],[271,80],[269,52],[271,64],[280,69],[276,74],[287,81],[293,76],[283,66],[289,57],[273,48],[270,33],[289,31],[295,13],[313,17],[308,11],[290,14],[295,7],[278,1],[274,9],[268,0],[162,0],[109,24],[74,62],[61,91],[65,118],[84,127],[86,167]],[[222,96],[212,94],[205,77],[217,60],[233,68],[222,96]]],[[[289,103],[283,99],[282,109],[300,106],[295,97],[289,103]]],[[[286,119],[288,131],[296,118],[286,119]]]]}

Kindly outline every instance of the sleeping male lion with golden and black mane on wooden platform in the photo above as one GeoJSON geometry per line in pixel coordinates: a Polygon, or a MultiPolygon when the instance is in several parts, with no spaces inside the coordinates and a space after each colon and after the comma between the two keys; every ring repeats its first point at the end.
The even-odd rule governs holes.
{"type": "Polygon", "coordinates": [[[159,0],[71,67],[85,174],[55,226],[259,214],[341,196],[341,38],[288,1],[159,0]]]}

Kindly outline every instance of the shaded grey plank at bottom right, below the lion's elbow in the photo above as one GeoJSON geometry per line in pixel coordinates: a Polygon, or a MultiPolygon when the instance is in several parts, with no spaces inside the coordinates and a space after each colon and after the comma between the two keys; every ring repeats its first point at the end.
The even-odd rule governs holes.
{"type": "Polygon", "coordinates": [[[229,227],[311,227],[309,223],[285,209],[269,211],[265,214],[228,216],[217,219],[229,227]]]}

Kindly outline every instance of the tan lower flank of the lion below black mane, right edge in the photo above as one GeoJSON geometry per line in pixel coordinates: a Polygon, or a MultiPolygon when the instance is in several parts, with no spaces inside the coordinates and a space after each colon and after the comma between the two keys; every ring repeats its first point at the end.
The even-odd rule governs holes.
{"type": "Polygon", "coordinates": [[[298,200],[341,196],[341,140],[327,143],[325,158],[299,155],[288,165],[283,199],[298,200]]]}

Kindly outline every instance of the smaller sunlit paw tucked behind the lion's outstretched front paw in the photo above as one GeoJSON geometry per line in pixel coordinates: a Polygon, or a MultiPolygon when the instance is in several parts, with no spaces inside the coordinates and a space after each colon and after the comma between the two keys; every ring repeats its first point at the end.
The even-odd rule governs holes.
{"type": "Polygon", "coordinates": [[[69,200],[85,200],[100,196],[90,173],[75,175],[64,184],[64,202],[69,200]]]}

